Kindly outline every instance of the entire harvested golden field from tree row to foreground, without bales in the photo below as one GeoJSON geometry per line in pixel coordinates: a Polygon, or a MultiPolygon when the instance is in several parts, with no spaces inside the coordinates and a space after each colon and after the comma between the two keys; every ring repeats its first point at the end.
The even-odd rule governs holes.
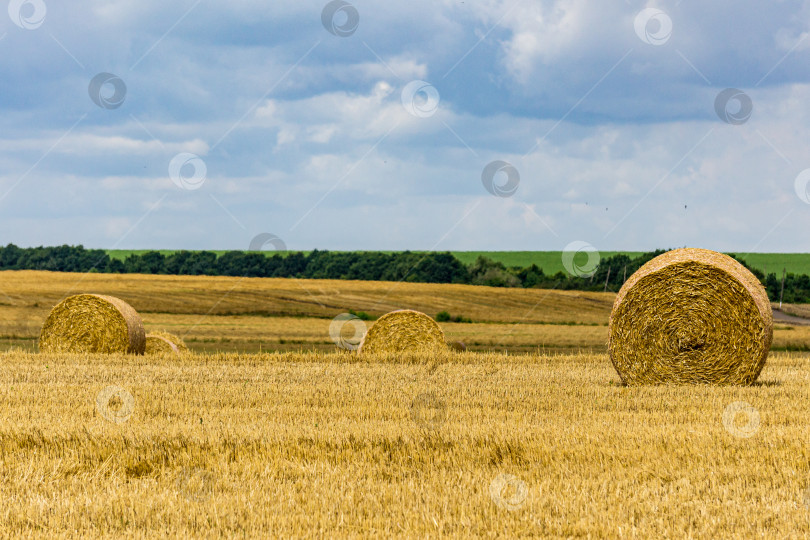
{"type": "Polygon", "coordinates": [[[810,534],[810,326],[778,323],[750,386],[624,386],[611,294],[2,275],[6,537],[810,534]],[[79,280],[190,352],[37,353],[79,280]],[[439,324],[467,352],[333,342],[408,296],[471,318],[439,324]]]}

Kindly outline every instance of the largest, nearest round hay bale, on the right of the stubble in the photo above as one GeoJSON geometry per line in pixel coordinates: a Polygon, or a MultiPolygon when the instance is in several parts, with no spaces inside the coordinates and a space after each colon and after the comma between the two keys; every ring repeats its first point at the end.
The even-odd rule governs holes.
{"type": "Polygon", "coordinates": [[[651,260],[622,286],[608,327],[626,384],[751,384],[768,358],[773,312],[759,280],[715,251],[651,260]]]}

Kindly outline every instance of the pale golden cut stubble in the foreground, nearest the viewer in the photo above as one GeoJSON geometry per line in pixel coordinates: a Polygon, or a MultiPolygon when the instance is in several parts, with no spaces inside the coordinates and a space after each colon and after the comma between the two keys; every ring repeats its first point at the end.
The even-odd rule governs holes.
{"type": "Polygon", "coordinates": [[[810,534],[796,354],[745,388],[621,387],[604,354],[0,361],[7,537],[810,534]]]}

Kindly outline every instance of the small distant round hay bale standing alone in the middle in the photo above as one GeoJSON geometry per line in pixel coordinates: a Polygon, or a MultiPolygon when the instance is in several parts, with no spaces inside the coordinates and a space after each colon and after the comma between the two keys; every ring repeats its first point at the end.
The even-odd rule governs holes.
{"type": "Polygon", "coordinates": [[[361,353],[447,350],[441,327],[420,311],[386,313],[363,336],[361,353]]]}

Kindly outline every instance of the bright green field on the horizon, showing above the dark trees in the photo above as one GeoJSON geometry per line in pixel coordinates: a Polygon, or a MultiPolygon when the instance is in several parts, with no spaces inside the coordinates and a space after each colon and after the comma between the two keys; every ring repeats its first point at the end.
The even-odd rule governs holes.
{"type": "MultiPolygon", "coordinates": [[[[129,255],[138,254],[142,255],[148,249],[111,249],[107,253],[113,259],[124,260],[129,255]]],[[[171,255],[176,250],[173,249],[159,249],[156,250],[163,255],[171,255]]],[[[217,255],[225,253],[227,250],[212,250],[217,255]]],[[[265,251],[267,255],[274,255],[278,251],[265,251]]],[[[304,254],[309,253],[304,251],[304,254]]],[[[391,253],[391,252],[386,252],[391,253]]],[[[453,251],[458,260],[465,264],[475,261],[479,256],[483,255],[494,261],[499,261],[506,266],[520,266],[526,267],[536,264],[542,268],[546,274],[555,274],[558,271],[564,271],[562,264],[561,251],[453,251]]],[[[638,257],[642,254],[641,251],[601,251],[599,254],[602,258],[611,257],[618,253],[624,253],[630,257],[638,257]]],[[[282,253],[283,255],[284,253],[282,253]]],[[[793,274],[808,274],[810,275],[810,253],[748,253],[740,255],[749,265],[763,272],[773,273],[780,275],[782,269],[787,269],[788,272],[793,274]]]]}

